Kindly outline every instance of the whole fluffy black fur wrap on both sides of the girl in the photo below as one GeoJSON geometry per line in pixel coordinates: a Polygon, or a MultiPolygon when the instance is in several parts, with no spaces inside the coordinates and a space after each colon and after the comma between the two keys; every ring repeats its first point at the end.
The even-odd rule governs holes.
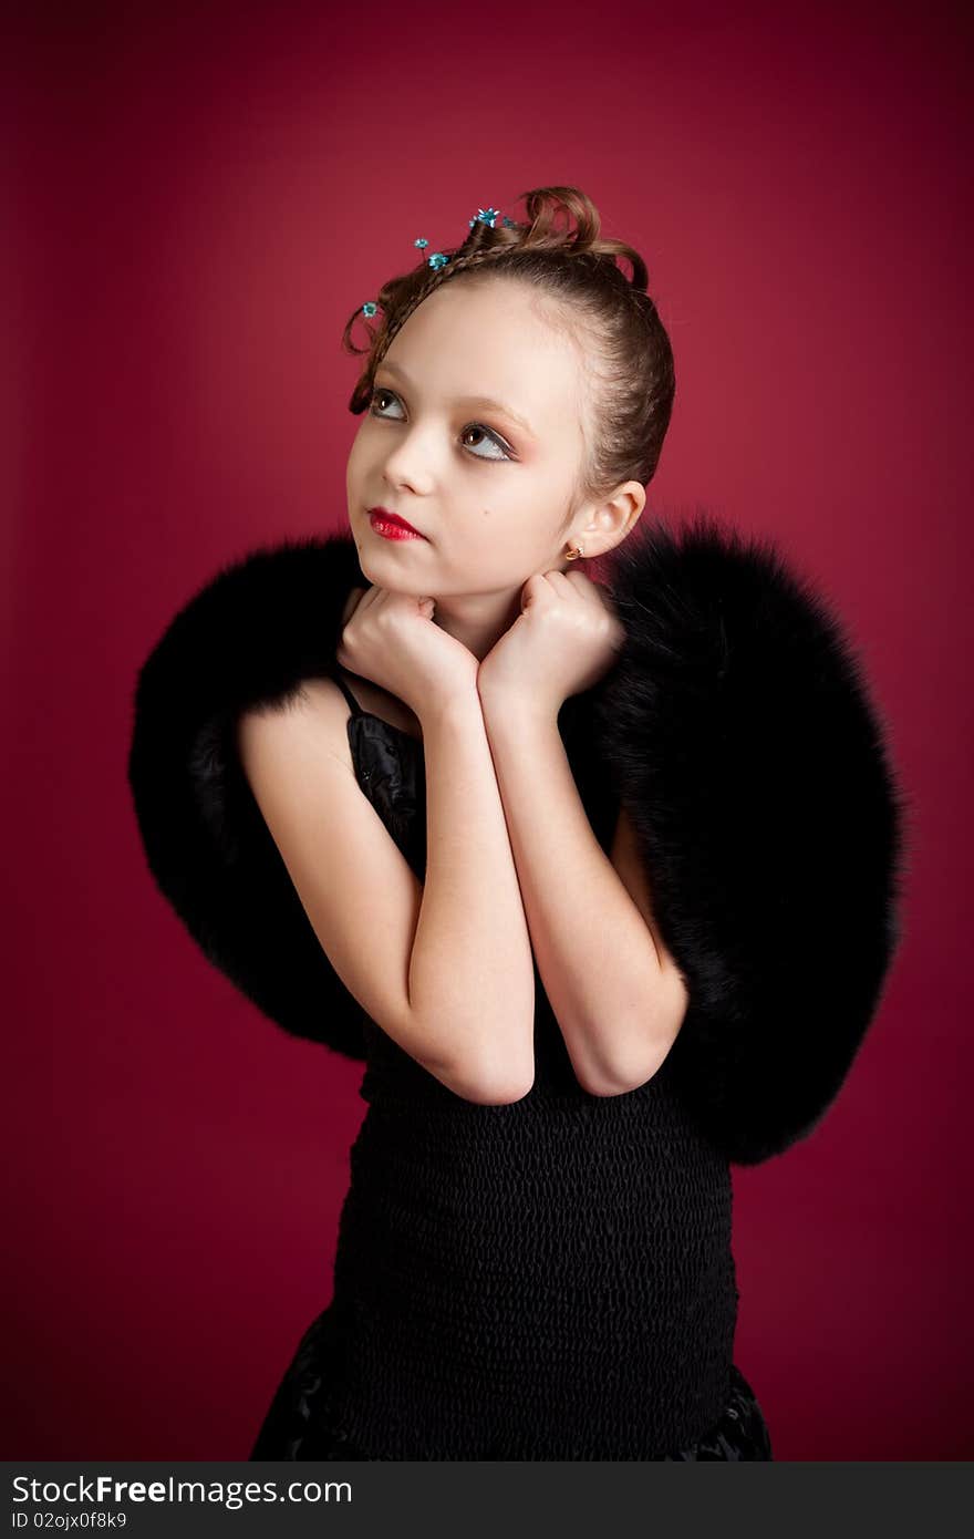
{"type": "MultiPolygon", "coordinates": [[[[699,516],[608,563],[626,629],[591,693],[595,751],[632,816],[655,919],[689,990],[666,1059],[722,1153],[806,1136],[876,1014],[900,937],[905,800],[839,620],[769,543],[699,516]]],[[[138,673],[128,776],[149,870],[220,968],[285,1031],[365,1059],[249,791],[237,716],[334,673],[348,534],[225,566],[138,673]]]]}

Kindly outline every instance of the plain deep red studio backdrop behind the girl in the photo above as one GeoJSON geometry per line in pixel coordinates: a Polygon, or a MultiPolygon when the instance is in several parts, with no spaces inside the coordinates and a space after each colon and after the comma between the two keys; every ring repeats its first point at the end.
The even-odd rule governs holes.
{"type": "Polygon", "coordinates": [[[34,9],[5,51],[5,1456],[243,1459],[331,1296],[360,1070],[155,891],[135,671],[218,563],[343,523],[339,339],[414,237],[568,182],[672,337],[649,511],[819,582],[914,802],[854,1073],[734,1174],[736,1359],[779,1459],[971,1457],[962,9],[34,9]]]}

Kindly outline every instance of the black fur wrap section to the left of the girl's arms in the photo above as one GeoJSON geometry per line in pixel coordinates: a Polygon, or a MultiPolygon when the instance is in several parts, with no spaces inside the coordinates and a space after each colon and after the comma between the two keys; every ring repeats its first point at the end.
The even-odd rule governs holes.
{"type": "Polygon", "coordinates": [[[351,537],[263,546],[226,565],[143,663],[128,779],[149,870],[206,957],[297,1037],[365,1059],[362,1010],[317,940],[235,751],[240,713],[326,676],[351,537]]]}

